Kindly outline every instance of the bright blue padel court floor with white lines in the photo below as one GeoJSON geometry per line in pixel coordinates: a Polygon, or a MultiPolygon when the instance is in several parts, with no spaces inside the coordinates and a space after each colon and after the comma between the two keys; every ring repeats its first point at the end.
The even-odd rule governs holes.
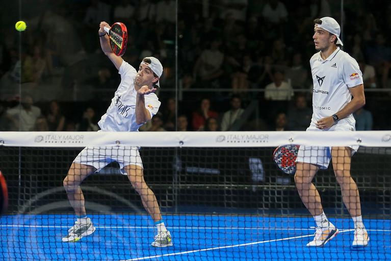
{"type": "Polygon", "coordinates": [[[89,215],[96,231],[76,243],[62,237],[73,215],[0,218],[1,260],[391,260],[391,221],[364,220],[365,248],[352,248],[350,219],[330,219],[340,233],[323,248],[308,248],[312,217],[166,215],[171,247],[154,248],[156,228],[146,215],[89,215]]]}

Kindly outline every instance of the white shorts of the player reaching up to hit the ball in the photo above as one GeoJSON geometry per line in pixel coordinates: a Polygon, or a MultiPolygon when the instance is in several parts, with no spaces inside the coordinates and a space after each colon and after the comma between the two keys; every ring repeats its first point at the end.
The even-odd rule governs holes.
{"type": "Polygon", "coordinates": [[[143,168],[139,148],[130,146],[86,147],[73,160],[74,163],[91,165],[100,171],[109,163],[117,161],[123,175],[126,165],[138,165],[143,168]]]}

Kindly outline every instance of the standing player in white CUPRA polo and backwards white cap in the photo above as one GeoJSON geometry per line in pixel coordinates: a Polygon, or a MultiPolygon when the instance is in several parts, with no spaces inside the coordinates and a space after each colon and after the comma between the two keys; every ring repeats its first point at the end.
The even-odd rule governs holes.
{"type": "MultiPolygon", "coordinates": [[[[323,17],[315,19],[314,23],[315,33],[312,38],[319,53],[309,61],[314,89],[313,113],[307,131],[354,131],[355,120],[352,113],[365,104],[362,74],[356,60],[337,46],[343,45],[337,21],[331,17],[323,17]]],[[[296,187],[317,224],[315,238],[307,246],[323,247],[338,233],[338,229],[328,221],[317,188],[311,183],[319,169],[327,169],[331,158],[343,201],[354,222],[352,245],[368,245],[369,236],[362,223],[357,185],[350,175],[351,156],[356,149],[300,147],[296,160],[296,187]]]]}

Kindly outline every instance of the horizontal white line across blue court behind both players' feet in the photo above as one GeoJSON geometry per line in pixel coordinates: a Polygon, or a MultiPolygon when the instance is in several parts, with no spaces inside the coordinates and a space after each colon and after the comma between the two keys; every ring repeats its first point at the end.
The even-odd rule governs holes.
{"type": "MultiPolygon", "coordinates": [[[[69,226],[43,226],[43,225],[0,225],[0,227],[35,227],[35,228],[69,228],[69,226]]],[[[94,226],[95,228],[129,228],[129,229],[155,229],[155,226],[94,226]]],[[[243,229],[243,230],[314,230],[311,228],[271,228],[271,227],[167,227],[168,229],[243,229]]],[[[345,231],[348,231],[346,229],[345,231]]],[[[353,229],[350,229],[353,230],[353,229]]],[[[342,230],[343,231],[343,230],[342,230]]],[[[367,229],[367,231],[391,232],[390,229],[367,229]]]]}

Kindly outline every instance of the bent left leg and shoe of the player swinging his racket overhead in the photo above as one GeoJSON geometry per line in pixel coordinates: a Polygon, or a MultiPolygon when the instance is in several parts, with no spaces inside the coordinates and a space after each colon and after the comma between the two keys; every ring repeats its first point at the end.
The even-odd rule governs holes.
{"type": "Polygon", "coordinates": [[[77,220],[75,224],[68,229],[68,235],[64,236],[63,242],[76,242],[86,235],[95,231],[91,220],[87,218],[86,208],[84,206],[84,195],[80,184],[96,169],[89,165],[72,163],[68,175],[64,179],[64,188],[66,190],[69,202],[73,207],[77,220]]]}

